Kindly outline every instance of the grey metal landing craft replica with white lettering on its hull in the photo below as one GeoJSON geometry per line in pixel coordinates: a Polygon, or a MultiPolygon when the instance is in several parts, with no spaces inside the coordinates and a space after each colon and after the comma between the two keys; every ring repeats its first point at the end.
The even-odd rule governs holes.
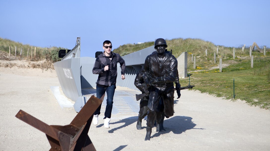
{"type": "MultiPolygon", "coordinates": [[[[96,58],[80,57],[80,37],[76,40],[76,46],[71,50],[59,50],[61,61],[53,64],[60,86],[67,98],[75,102],[74,109],[79,112],[87,102],[86,97],[96,93],[97,74],[92,73],[96,58]]],[[[138,90],[134,85],[136,74],[143,66],[145,59],[156,51],[154,46],[122,56],[126,63],[125,80],[117,76],[116,86],[138,90]]],[[[96,57],[102,52],[96,52],[96,57]]],[[[183,52],[178,61],[179,78],[187,77],[187,52],[183,52]]],[[[117,65],[117,74],[121,75],[120,64],[117,65]]]]}

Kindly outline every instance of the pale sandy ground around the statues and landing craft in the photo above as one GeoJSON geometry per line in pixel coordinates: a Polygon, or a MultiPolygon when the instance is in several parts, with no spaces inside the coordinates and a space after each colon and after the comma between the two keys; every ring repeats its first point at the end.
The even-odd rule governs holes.
{"type": "MultiPolygon", "coordinates": [[[[60,86],[54,70],[0,67],[0,150],[49,150],[43,132],[15,117],[20,109],[49,125],[67,125],[76,116],[61,108],[50,86],[60,86]]],[[[97,150],[270,150],[270,112],[243,101],[232,102],[196,91],[181,91],[175,114],[164,120],[166,131],[153,128],[144,141],[137,116],[113,115],[93,124],[89,137],[97,150]]],[[[175,98],[177,98],[175,96],[175,98]]]]}

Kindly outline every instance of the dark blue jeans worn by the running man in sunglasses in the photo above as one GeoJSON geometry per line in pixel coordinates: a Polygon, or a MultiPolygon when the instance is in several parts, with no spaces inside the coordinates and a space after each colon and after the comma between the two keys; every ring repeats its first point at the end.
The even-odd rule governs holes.
{"type": "MultiPolygon", "coordinates": [[[[116,86],[113,84],[111,86],[108,87],[99,87],[97,85],[97,98],[101,98],[103,94],[105,94],[105,92],[107,93],[107,105],[106,105],[106,110],[104,113],[104,118],[106,117],[111,118],[112,115],[112,109],[113,109],[113,96],[114,96],[114,91],[115,91],[116,86]]],[[[95,111],[94,115],[99,115],[100,114],[100,109],[101,109],[101,105],[97,108],[97,110],[95,111]]]]}

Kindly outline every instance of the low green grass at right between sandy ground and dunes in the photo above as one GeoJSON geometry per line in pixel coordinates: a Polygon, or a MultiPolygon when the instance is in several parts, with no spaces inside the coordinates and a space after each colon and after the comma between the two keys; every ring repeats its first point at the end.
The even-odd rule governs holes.
{"type": "MultiPolygon", "coordinates": [[[[239,59],[238,63],[222,69],[192,72],[193,89],[225,99],[233,99],[233,79],[235,99],[245,100],[249,105],[270,109],[270,57],[254,58],[254,68],[250,60],[239,59]]],[[[188,84],[188,78],[180,80],[188,84]]]]}

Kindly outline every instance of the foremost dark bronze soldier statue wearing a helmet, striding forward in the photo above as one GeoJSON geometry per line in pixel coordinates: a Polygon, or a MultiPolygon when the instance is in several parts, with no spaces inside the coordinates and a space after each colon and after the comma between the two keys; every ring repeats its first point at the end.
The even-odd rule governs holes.
{"type": "Polygon", "coordinates": [[[160,123],[161,118],[156,118],[160,97],[164,101],[164,114],[166,118],[173,116],[174,85],[177,75],[177,60],[170,53],[165,52],[167,43],[165,39],[158,38],[154,43],[157,53],[147,56],[142,71],[143,81],[149,90],[147,128],[145,141],[150,140],[154,121],[160,123]]]}

